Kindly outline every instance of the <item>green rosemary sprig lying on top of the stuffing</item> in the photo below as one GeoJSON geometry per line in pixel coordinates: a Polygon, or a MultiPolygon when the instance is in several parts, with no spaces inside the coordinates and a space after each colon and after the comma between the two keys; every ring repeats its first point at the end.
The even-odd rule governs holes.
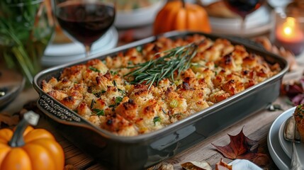
{"type": "Polygon", "coordinates": [[[164,53],[164,56],[128,67],[129,69],[135,69],[125,74],[125,77],[134,77],[133,81],[130,81],[131,84],[141,84],[142,82],[150,84],[149,89],[154,82],[157,85],[159,81],[165,78],[171,78],[174,81],[174,72],[176,70],[180,74],[190,67],[191,59],[196,55],[197,47],[195,43],[190,43],[164,52],[158,52],[155,55],[164,53]]]}

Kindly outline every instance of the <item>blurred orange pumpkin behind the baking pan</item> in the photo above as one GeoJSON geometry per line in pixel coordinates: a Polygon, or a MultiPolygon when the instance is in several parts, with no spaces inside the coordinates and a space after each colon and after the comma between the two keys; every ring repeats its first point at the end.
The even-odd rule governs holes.
{"type": "Polygon", "coordinates": [[[184,1],[168,1],[157,13],[154,21],[154,35],[170,30],[193,30],[210,33],[208,13],[197,4],[184,1]]]}

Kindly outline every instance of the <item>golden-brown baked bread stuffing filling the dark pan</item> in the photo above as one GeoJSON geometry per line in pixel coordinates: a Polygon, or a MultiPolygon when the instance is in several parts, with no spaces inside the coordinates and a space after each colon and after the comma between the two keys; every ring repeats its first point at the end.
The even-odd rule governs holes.
{"type": "Polygon", "coordinates": [[[65,68],[42,89],[94,125],[134,136],[186,118],[274,76],[278,64],[226,39],[159,38],[65,68]]]}

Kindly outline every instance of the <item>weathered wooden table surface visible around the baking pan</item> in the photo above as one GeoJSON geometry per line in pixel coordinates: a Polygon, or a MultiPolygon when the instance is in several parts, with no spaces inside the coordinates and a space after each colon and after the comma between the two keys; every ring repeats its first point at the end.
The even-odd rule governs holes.
{"type": "MultiPolygon", "coordinates": [[[[295,79],[299,77],[304,70],[304,56],[298,57],[298,61],[300,61],[300,68],[297,72],[292,72],[287,74],[284,79],[295,79]]],[[[8,113],[16,113],[23,108],[25,103],[28,101],[36,101],[38,98],[38,94],[35,92],[33,88],[25,89],[10,106],[8,106],[4,112],[8,113]]],[[[280,96],[274,101],[274,103],[281,105],[284,111],[292,106],[286,103],[286,97],[280,96]]],[[[173,164],[174,169],[181,169],[180,164],[184,162],[192,162],[192,161],[206,161],[208,162],[214,169],[215,164],[220,162],[220,159],[223,159],[225,162],[229,163],[232,160],[225,159],[222,154],[215,151],[215,147],[211,145],[212,142],[215,145],[227,145],[229,143],[230,135],[237,135],[240,130],[243,128],[243,132],[247,137],[252,140],[259,140],[259,149],[262,153],[268,154],[269,151],[267,148],[267,134],[269,132],[269,128],[271,123],[283,113],[283,111],[267,111],[264,109],[263,111],[259,111],[258,113],[254,113],[248,118],[244,120],[240,120],[230,127],[227,127],[225,130],[218,132],[218,134],[209,137],[207,140],[198,143],[187,149],[180,154],[177,154],[175,157],[171,157],[171,159],[167,159],[166,161],[160,164],[173,164]]],[[[64,148],[66,164],[71,164],[75,169],[105,169],[101,164],[95,162],[88,154],[81,152],[77,147],[74,147],[72,142],[67,141],[58,133],[56,130],[49,125],[45,119],[40,119],[38,124],[40,128],[46,128],[50,130],[56,137],[57,141],[60,142],[60,145],[64,148]]],[[[269,163],[263,167],[264,169],[278,169],[274,164],[273,160],[269,155],[269,163]]]]}

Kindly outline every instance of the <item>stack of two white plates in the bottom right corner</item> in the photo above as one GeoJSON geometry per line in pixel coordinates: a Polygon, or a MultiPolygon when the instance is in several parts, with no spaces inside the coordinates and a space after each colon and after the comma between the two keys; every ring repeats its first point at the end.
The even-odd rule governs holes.
{"type": "MultiPolygon", "coordinates": [[[[279,169],[290,169],[291,164],[291,142],[284,140],[283,130],[286,120],[293,115],[295,107],[283,112],[274,120],[267,137],[269,153],[279,169]]],[[[295,152],[298,152],[300,158],[304,157],[304,143],[295,144],[295,152]]],[[[304,159],[300,159],[304,165],[304,159]]]]}

